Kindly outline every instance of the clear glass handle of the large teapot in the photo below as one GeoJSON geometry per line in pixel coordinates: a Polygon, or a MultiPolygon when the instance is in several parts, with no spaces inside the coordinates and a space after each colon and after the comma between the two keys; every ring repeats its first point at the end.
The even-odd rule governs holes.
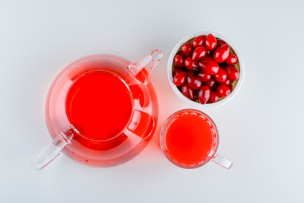
{"type": "Polygon", "coordinates": [[[68,136],[61,132],[41,153],[32,161],[36,170],[41,170],[53,161],[63,149],[70,143],[68,136]]]}

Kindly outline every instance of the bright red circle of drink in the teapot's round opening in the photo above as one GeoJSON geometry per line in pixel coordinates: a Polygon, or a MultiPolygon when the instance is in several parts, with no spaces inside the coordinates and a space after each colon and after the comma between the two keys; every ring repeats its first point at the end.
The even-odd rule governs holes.
{"type": "Polygon", "coordinates": [[[106,140],[129,122],[132,100],[127,86],[114,74],[95,71],[80,76],[66,98],[71,124],[85,137],[106,140]]]}

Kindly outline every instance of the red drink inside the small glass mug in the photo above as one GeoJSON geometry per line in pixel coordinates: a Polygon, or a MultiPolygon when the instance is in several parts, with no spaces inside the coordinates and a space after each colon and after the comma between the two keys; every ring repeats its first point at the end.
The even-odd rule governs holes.
{"type": "Polygon", "coordinates": [[[185,111],[176,114],[175,116],[180,115],[180,117],[174,120],[174,116],[172,118],[174,121],[167,123],[165,152],[169,155],[169,159],[177,164],[202,164],[208,161],[216,150],[217,130],[202,114],[201,116],[209,121],[209,124],[198,115],[181,115],[184,113],[185,111]]]}

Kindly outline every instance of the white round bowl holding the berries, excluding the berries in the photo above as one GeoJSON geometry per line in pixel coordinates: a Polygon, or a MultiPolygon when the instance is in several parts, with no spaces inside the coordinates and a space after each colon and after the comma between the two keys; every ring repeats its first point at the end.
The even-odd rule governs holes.
{"type": "Polygon", "coordinates": [[[180,97],[182,100],[184,100],[185,102],[193,105],[193,106],[196,106],[196,107],[216,107],[216,106],[220,106],[224,103],[226,103],[227,101],[229,101],[232,97],[234,97],[234,95],[236,95],[236,93],[238,92],[242,82],[243,82],[243,78],[244,78],[244,61],[243,61],[243,58],[240,54],[240,52],[237,50],[236,46],[234,46],[234,44],[229,40],[227,39],[226,37],[218,34],[218,33],[213,33],[213,32],[199,32],[199,33],[194,33],[194,34],[191,34],[191,35],[188,35],[186,37],[184,37],[182,40],[180,40],[176,45],[175,47],[173,48],[170,56],[169,56],[169,61],[168,61],[168,78],[169,78],[169,83],[171,85],[171,88],[173,89],[173,91],[177,94],[178,97],[180,97]],[[210,103],[210,104],[200,104],[200,103],[197,103],[195,101],[192,101],[190,99],[188,99],[186,96],[183,95],[182,92],[180,92],[177,87],[173,84],[173,77],[172,77],[172,64],[173,64],[173,59],[174,59],[174,56],[175,54],[178,52],[178,50],[180,49],[180,47],[182,46],[183,43],[185,43],[186,41],[194,38],[194,37],[197,37],[197,36],[200,36],[200,35],[208,35],[208,34],[212,34],[214,35],[215,37],[217,38],[220,38],[222,40],[224,40],[225,42],[227,42],[230,46],[231,49],[233,49],[233,51],[235,52],[237,58],[238,58],[238,63],[239,63],[239,79],[236,83],[236,86],[234,88],[234,90],[229,94],[229,96],[227,96],[226,98],[216,102],[216,103],[210,103]]]}

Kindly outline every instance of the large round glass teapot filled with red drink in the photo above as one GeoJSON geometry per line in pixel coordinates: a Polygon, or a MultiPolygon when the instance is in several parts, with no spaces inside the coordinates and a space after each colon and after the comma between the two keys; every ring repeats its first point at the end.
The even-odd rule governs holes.
{"type": "Polygon", "coordinates": [[[157,124],[157,98],[149,78],[161,57],[160,50],[135,63],[89,55],[62,70],[45,108],[53,141],[33,160],[34,168],[47,166],[62,151],[97,167],[116,166],[138,155],[157,124]]]}

